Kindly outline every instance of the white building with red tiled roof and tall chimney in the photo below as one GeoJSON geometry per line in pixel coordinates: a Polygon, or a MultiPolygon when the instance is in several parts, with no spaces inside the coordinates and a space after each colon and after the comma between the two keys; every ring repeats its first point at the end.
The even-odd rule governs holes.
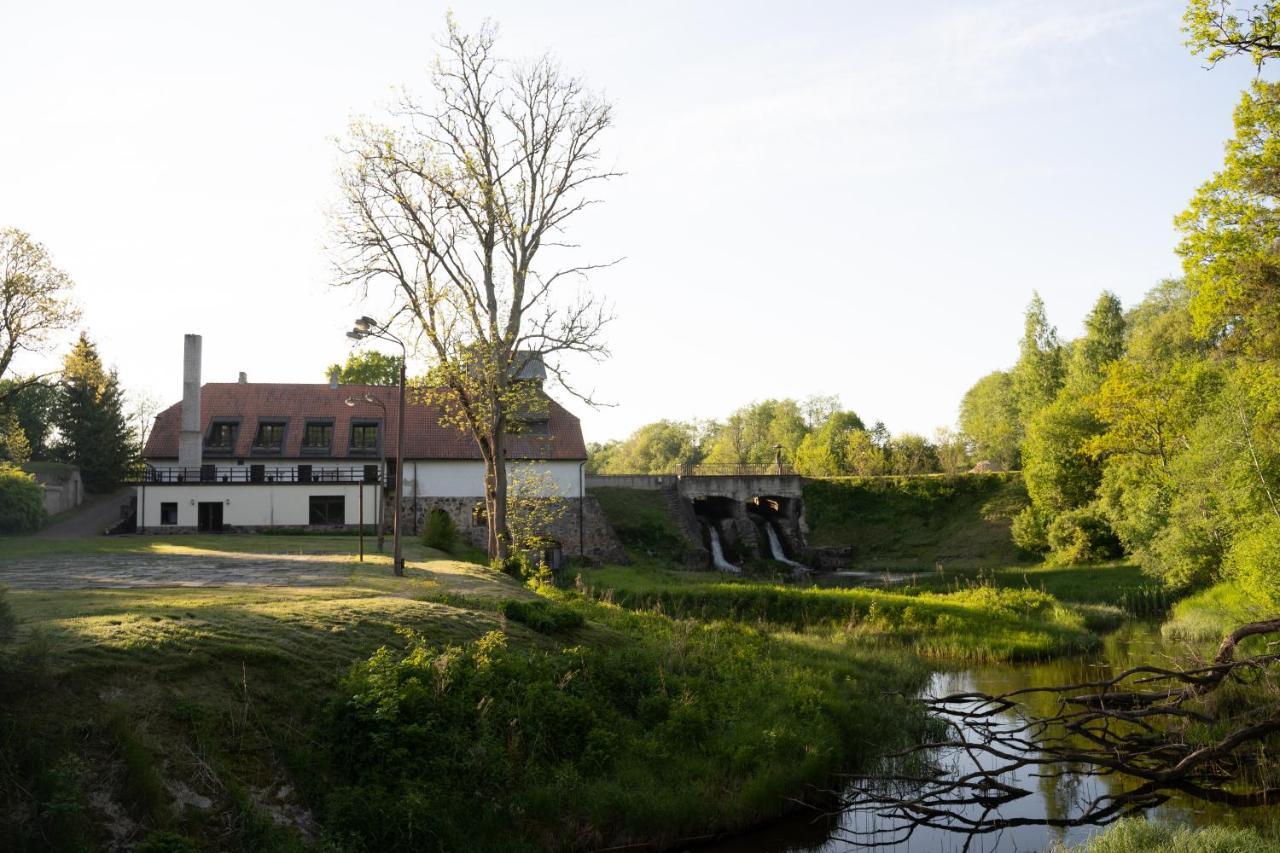
{"type": "MultiPolygon", "coordinates": [[[[161,411],[143,450],[137,528],[145,533],[330,529],[378,524],[401,488],[406,533],[425,515],[453,516],[483,543],[484,462],[474,439],[442,425],[438,406],[406,400],[404,459],[396,457],[399,389],[329,383],[201,383],[198,336],[186,339],[183,400],[161,411]]],[[[531,379],[536,380],[536,379],[531,379]]],[[[570,502],[559,524],[567,553],[608,528],[584,500],[586,446],[579,419],[547,397],[545,411],[508,439],[508,470],[570,502]],[[590,535],[589,535],[590,534],[590,535]]],[[[612,530],[604,540],[616,539],[612,530]]],[[[605,542],[608,551],[613,546],[605,542]]]]}

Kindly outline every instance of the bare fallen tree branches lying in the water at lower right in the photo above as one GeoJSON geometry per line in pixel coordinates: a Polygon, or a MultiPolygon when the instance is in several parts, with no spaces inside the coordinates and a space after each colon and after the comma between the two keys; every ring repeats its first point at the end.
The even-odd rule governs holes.
{"type": "Polygon", "coordinates": [[[1175,794],[1235,808],[1277,804],[1280,774],[1267,763],[1266,742],[1280,734],[1280,654],[1236,657],[1243,640],[1271,634],[1280,635],[1280,619],[1242,625],[1203,666],[1135,666],[1078,684],[925,698],[945,736],[884,756],[892,772],[847,777],[840,811],[873,820],[841,836],[879,847],[942,830],[968,836],[968,850],[978,836],[1019,826],[1103,826],[1175,794]],[[1226,701],[1219,692],[1229,684],[1248,686],[1251,701],[1226,701]],[[1032,713],[1033,695],[1056,701],[1056,710],[1032,713]],[[1076,788],[1091,777],[1106,780],[1100,793],[1076,788]],[[1042,780],[1068,789],[1064,813],[1001,813],[1042,780]]]}

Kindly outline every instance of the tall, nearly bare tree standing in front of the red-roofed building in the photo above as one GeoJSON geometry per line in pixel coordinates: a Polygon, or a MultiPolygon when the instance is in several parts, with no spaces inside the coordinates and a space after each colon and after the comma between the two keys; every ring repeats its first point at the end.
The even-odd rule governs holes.
{"type": "Polygon", "coordinates": [[[585,400],[561,356],[605,355],[609,314],[582,284],[608,264],[577,261],[566,228],[617,173],[599,163],[609,104],[552,58],[507,61],[494,41],[492,23],[467,33],[449,18],[430,99],[352,126],[335,248],[340,284],[394,295],[433,365],[421,392],[475,438],[489,555],[506,558],[507,439],[541,400],[518,377],[541,360],[585,400]]]}

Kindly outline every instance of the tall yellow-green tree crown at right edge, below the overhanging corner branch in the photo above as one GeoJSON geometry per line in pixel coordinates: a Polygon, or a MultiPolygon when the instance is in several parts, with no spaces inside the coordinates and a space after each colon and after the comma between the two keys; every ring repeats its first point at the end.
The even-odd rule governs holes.
{"type": "Polygon", "coordinates": [[[1235,108],[1221,172],[1178,216],[1196,332],[1229,351],[1280,357],[1280,83],[1254,81],[1235,108]]]}

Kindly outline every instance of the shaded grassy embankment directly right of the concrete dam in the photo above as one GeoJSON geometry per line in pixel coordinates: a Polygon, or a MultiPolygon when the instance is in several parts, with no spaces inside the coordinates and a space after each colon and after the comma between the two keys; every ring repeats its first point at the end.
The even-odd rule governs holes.
{"type": "Polygon", "coordinates": [[[815,547],[851,547],[860,569],[928,570],[1023,562],[1009,535],[1027,503],[1021,478],[808,480],[805,515],[815,547]]]}

